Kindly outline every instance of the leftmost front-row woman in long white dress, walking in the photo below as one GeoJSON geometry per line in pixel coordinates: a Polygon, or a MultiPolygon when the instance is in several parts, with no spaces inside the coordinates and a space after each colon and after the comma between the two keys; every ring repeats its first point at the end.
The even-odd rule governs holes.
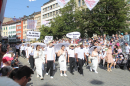
{"type": "Polygon", "coordinates": [[[45,63],[45,59],[43,58],[43,52],[40,51],[40,46],[36,46],[36,51],[34,51],[34,59],[35,59],[35,66],[37,77],[40,76],[40,79],[43,80],[43,64],[45,63]]]}

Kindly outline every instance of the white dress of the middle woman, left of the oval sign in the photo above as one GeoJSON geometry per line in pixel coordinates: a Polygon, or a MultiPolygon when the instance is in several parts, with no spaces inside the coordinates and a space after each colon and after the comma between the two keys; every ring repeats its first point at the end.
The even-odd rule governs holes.
{"type": "Polygon", "coordinates": [[[66,59],[65,59],[66,53],[64,52],[60,57],[59,57],[59,64],[60,64],[60,70],[61,71],[66,71],[66,59]]]}

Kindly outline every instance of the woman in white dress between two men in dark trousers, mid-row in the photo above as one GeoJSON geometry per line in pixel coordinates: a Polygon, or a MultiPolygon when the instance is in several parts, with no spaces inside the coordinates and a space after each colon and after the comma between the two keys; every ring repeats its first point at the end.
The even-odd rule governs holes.
{"type": "Polygon", "coordinates": [[[66,75],[66,51],[65,51],[65,46],[61,46],[61,50],[58,51],[58,56],[59,56],[59,64],[60,64],[60,76],[63,76],[62,71],[64,71],[64,76],[66,75]]]}

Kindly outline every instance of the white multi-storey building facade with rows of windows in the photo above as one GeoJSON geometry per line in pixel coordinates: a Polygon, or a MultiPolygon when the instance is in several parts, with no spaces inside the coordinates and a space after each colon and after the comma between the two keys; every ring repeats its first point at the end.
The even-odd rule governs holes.
{"type": "Polygon", "coordinates": [[[60,13],[60,6],[56,1],[52,1],[41,7],[41,25],[43,21],[51,21],[60,13]]]}

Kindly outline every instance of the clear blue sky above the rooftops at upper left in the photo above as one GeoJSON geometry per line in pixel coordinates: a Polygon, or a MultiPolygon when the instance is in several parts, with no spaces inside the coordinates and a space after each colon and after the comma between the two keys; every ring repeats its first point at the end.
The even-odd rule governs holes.
{"type": "Polygon", "coordinates": [[[41,6],[49,0],[7,0],[4,17],[19,18],[41,11],[41,6]],[[29,6],[29,8],[27,7],[29,6]]]}

